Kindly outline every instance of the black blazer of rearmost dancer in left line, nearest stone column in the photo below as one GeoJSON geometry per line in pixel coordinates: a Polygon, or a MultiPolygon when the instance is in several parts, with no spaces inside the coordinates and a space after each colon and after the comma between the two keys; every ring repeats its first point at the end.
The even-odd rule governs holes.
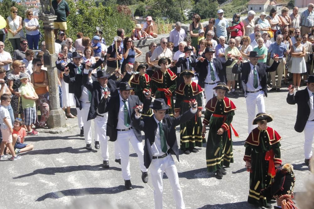
{"type": "MultiPolygon", "coordinates": [[[[104,62],[104,59],[100,58],[96,63],[91,65],[90,68],[96,69],[103,62],[104,62]]],[[[57,67],[58,70],[60,70],[62,72],[64,72],[64,69],[66,67],[69,68],[69,71],[70,71],[69,75],[68,76],[63,76],[63,80],[64,80],[64,82],[69,84],[69,93],[74,94],[79,99],[81,97],[81,94],[82,94],[81,88],[79,86],[82,86],[82,74],[83,74],[83,71],[85,69],[85,63],[81,64],[82,74],[76,74],[75,73],[74,69],[77,68],[77,67],[76,67],[76,65],[74,65],[73,62],[68,63],[68,65],[66,65],[66,66],[61,65],[61,63],[57,64],[57,62],[56,62],[56,67],[57,67]],[[76,83],[76,84],[74,84],[74,83],[76,83]]]]}

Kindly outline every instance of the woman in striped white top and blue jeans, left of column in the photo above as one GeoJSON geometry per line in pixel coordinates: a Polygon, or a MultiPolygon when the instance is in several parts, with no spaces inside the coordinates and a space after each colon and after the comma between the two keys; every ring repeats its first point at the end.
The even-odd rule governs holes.
{"type": "Polygon", "coordinates": [[[26,31],[26,39],[29,49],[38,49],[39,42],[39,23],[36,18],[33,18],[31,9],[26,10],[24,19],[24,28],[26,31]]]}

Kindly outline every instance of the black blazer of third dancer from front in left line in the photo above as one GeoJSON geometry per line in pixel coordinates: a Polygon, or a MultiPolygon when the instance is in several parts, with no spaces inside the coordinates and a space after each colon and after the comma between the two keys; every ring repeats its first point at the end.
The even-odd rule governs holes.
{"type": "MultiPolygon", "coordinates": [[[[117,77],[112,75],[108,78],[107,88],[110,91],[110,95],[114,96],[118,94],[116,90],[117,86],[120,82],[127,82],[131,78],[131,74],[126,73],[122,80],[116,80],[117,77]]],[[[87,120],[91,120],[96,118],[96,110],[101,100],[102,86],[100,86],[98,81],[94,81],[93,83],[89,82],[88,74],[83,74],[82,79],[83,85],[92,93],[92,99],[90,102],[90,108],[87,116],[87,120]]],[[[100,110],[98,110],[100,113],[100,110]]],[[[103,112],[102,112],[103,113],[103,112]]]]}

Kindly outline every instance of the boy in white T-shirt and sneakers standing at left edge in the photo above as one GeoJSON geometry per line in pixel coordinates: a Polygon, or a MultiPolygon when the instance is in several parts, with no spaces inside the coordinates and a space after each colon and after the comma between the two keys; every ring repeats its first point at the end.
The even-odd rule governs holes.
{"type": "Polygon", "coordinates": [[[20,159],[21,156],[16,155],[12,145],[12,124],[9,111],[7,106],[10,105],[11,97],[8,94],[3,94],[1,96],[1,105],[0,105],[0,124],[1,124],[1,133],[2,133],[2,142],[0,145],[0,160],[6,159],[8,155],[4,154],[4,146],[10,150],[12,154],[11,160],[20,159]]]}

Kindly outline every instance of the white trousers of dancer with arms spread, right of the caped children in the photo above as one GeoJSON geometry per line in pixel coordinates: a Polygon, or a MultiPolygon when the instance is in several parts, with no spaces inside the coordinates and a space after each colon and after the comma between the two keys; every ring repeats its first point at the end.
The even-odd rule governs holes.
{"type": "Polygon", "coordinates": [[[258,113],[265,112],[264,91],[256,93],[246,93],[246,111],[247,111],[247,131],[251,133],[254,129],[253,120],[256,117],[255,110],[257,106],[258,113]]]}

